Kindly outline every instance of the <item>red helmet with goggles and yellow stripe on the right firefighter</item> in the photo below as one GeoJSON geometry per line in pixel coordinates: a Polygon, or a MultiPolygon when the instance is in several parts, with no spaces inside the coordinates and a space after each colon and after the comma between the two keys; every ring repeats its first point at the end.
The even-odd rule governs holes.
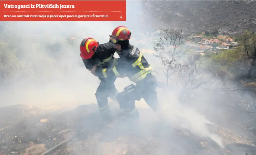
{"type": "Polygon", "coordinates": [[[109,35],[110,42],[113,44],[117,44],[118,40],[129,40],[131,38],[132,33],[125,26],[116,27],[112,35],[109,35]]]}

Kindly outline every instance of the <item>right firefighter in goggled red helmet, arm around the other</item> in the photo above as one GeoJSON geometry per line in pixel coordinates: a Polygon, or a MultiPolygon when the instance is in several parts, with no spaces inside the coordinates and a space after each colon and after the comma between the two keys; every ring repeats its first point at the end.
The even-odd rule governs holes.
{"type": "Polygon", "coordinates": [[[126,75],[136,86],[130,85],[116,96],[124,116],[138,118],[139,113],[135,101],[144,98],[146,103],[157,111],[156,78],[151,74],[152,68],[137,47],[129,44],[131,32],[125,26],[116,27],[110,42],[115,45],[119,54],[117,63],[111,68],[97,67],[95,74],[99,77],[111,78],[126,75]]]}

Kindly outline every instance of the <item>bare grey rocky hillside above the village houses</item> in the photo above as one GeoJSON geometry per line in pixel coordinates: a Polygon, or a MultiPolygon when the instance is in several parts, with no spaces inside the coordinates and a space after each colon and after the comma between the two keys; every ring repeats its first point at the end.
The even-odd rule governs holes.
{"type": "Polygon", "coordinates": [[[152,27],[217,27],[221,33],[256,31],[256,1],[142,1],[143,20],[152,27]],[[152,22],[152,20],[154,22],[152,22]],[[160,26],[161,25],[161,26],[160,26]]]}

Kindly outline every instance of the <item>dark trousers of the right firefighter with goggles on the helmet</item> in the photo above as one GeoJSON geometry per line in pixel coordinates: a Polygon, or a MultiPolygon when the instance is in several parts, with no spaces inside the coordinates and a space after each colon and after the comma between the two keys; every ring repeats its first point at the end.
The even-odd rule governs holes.
{"type": "Polygon", "coordinates": [[[124,88],[123,92],[118,93],[116,100],[120,108],[125,112],[133,111],[135,108],[135,101],[140,101],[143,98],[147,105],[154,111],[157,111],[158,99],[156,92],[157,81],[152,74],[148,74],[146,78],[136,83],[136,86],[130,85],[124,88]]]}

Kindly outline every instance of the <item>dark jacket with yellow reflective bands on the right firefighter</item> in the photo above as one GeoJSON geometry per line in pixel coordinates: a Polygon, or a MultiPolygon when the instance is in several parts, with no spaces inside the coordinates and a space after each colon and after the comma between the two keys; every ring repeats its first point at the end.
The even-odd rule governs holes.
{"type": "Polygon", "coordinates": [[[150,64],[137,47],[129,45],[128,49],[121,50],[121,52],[116,51],[116,53],[120,57],[117,63],[111,68],[98,67],[95,71],[96,76],[111,78],[125,75],[131,81],[137,83],[152,72],[150,64]]]}

